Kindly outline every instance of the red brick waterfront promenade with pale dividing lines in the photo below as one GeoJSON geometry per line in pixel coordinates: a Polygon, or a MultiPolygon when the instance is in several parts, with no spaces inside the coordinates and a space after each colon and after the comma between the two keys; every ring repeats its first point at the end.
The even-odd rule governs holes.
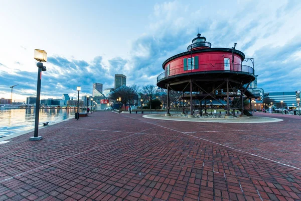
{"type": "Polygon", "coordinates": [[[180,122],[95,112],[0,144],[0,200],[299,200],[301,117],[180,122]]]}

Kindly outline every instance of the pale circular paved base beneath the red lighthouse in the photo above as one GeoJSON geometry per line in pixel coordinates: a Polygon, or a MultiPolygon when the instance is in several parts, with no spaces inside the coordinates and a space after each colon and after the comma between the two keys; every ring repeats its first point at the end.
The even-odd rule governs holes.
{"type": "Polygon", "coordinates": [[[218,123],[272,123],[281,122],[282,119],[270,118],[270,117],[239,117],[233,119],[224,118],[187,118],[187,117],[166,117],[161,114],[143,115],[144,118],[170,120],[170,121],[183,121],[183,122],[218,122],[218,123]]]}

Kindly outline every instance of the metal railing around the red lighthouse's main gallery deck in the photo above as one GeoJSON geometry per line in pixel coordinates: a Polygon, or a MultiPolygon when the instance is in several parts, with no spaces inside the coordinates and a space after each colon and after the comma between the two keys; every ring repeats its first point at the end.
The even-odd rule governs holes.
{"type": "Polygon", "coordinates": [[[186,74],[186,73],[193,73],[193,72],[206,72],[206,71],[237,71],[237,72],[246,72],[254,75],[254,69],[251,66],[241,65],[241,64],[229,64],[229,63],[216,63],[216,64],[200,64],[200,65],[193,65],[194,69],[189,69],[190,66],[187,66],[187,70],[184,70],[183,65],[173,66],[169,72],[163,72],[157,77],[157,82],[161,79],[166,77],[186,74]],[[197,68],[197,69],[196,69],[197,68]]]}

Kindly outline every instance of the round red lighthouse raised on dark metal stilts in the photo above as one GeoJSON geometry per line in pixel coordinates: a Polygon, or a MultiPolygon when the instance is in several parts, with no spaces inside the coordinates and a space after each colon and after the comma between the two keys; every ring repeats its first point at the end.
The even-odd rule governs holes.
{"type": "MultiPolygon", "coordinates": [[[[248,85],[255,79],[254,69],[251,66],[242,65],[245,55],[233,48],[211,48],[211,43],[198,34],[182,52],[168,58],[162,65],[165,72],[157,77],[157,85],[168,90],[169,115],[170,90],[180,91],[180,108],[185,109],[184,101],[190,101],[190,116],[194,109],[206,109],[203,103],[210,100],[221,102],[227,97],[227,116],[230,110],[243,109],[243,99],[254,97],[247,90],[248,85]],[[229,98],[239,98],[235,104],[229,102],[229,98]]],[[[206,104],[205,104],[206,105],[206,104]]],[[[227,117],[226,116],[226,117],[227,117]]]]}

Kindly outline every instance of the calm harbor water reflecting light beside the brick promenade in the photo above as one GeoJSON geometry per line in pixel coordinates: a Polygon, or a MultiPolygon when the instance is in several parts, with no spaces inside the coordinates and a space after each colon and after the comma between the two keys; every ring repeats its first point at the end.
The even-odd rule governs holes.
{"type": "MultiPolygon", "coordinates": [[[[39,126],[43,123],[57,123],[75,117],[76,110],[41,109],[39,126]]],[[[81,112],[81,111],[80,111],[81,112]]],[[[15,134],[33,129],[35,126],[35,109],[0,110],[0,135],[15,134]]]]}

